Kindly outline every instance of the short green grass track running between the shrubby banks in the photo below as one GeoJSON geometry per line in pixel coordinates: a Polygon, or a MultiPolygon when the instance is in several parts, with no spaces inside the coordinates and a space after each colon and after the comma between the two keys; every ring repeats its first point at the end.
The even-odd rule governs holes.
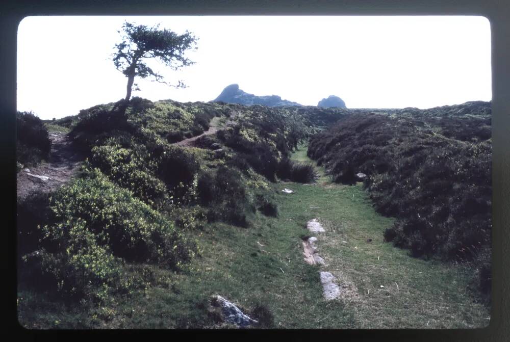
{"type": "MultiPolygon", "coordinates": [[[[304,147],[293,159],[310,161],[304,147]]],[[[210,296],[219,294],[248,313],[258,304],[266,306],[274,315],[274,328],[489,324],[488,309],[474,303],[467,292],[469,270],[412,258],[383,242],[382,232],[393,221],[375,213],[361,185],[335,185],[319,172],[314,185],[272,185],[277,218],[257,214],[247,229],[208,225],[198,237],[202,257],[193,261],[189,274],[159,270],[147,293],[87,313],[64,315],[55,307],[54,312],[45,309],[44,315],[37,315],[37,310],[22,306],[22,298],[21,312],[40,326],[208,328],[219,326],[208,314],[210,296]],[[295,193],[285,194],[284,188],[295,193]],[[326,260],[321,267],[306,264],[302,257],[300,238],[310,235],[305,224],[313,218],[326,229],[315,235],[318,253],[326,260]],[[346,298],[322,299],[320,270],[351,284],[346,298]]]]}

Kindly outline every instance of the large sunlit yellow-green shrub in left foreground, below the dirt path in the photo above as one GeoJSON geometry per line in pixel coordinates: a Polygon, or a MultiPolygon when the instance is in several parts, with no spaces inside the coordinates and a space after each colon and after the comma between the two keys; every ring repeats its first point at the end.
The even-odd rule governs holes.
{"type": "Polygon", "coordinates": [[[186,267],[195,243],[98,169],[86,174],[51,196],[53,222],[39,228],[42,249],[24,257],[48,287],[73,298],[104,300],[145,286],[143,279],[124,274],[126,262],[186,267]]]}

